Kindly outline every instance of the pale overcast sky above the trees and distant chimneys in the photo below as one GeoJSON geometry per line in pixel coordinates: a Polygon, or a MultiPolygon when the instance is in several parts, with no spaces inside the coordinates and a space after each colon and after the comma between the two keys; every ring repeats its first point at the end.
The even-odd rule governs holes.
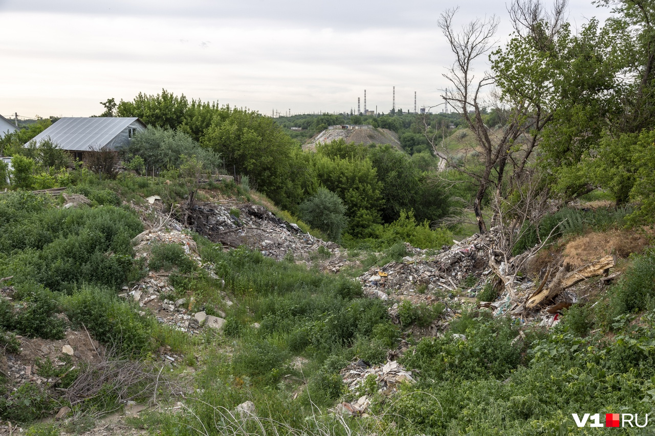
{"type": "MultiPolygon", "coordinates": [[[[453,57],[436,27],[503,1],[0,0],[0,115],[87,117],[165,88],[270,115],[440,103],[453,57]]],[[[571,0],[578,26],[607,11],[571,0]]],[[[482,69],[482,68],[481,68],[482,69]]],[[[481,71],[479,71],[481,73],[481,71]]]]}

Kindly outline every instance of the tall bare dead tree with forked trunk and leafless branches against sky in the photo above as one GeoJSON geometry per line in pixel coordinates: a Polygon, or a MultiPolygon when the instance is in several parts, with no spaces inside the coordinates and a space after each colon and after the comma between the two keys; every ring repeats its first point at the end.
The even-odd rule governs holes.
{"type": "MultiPolygon", "coordinates": [[[[557,32],[565,22],[567,0],[555,0],[551,12],[546,12],[539,0],[515,0],[510,7],[510,16],[519,37],[540,41],[550,45],[557,38],[557,32]],[[544,36],[545,35],[545,36],[544,36]]],[[[449,9],[441,14],[438,26],[445,35],[455,62],[443,75],[450,86],[443,91],[442,98],[454,111],[460,113],[466,126],[473,132],[475,144],[468,150],[460,151],[459,156],[449,153],[447,147],[438,139],[438,132],[424,119],[423,131],[432,149],[442,162],[450,168],[468,175],[476,187],[473,211],[479,232],[487,231],[483,219],[482,200],[487,191],[495,187],[496,198],[506,198],[510,192],[520,189],[521,181],[533,162],[533,154],[538,147],[542,131],[553,118],[553,108],[544,103],[548,94],[548,83],[538,86],[514,86],[513,74],[524,71],[512,71],[512,57],[505,56],[505,64],[499,64],[510,73],[508,77],[496,77],[485,71],[476,79],[473,65],[491,52],[495,44],[498,19],[495,16],[476,19],[455,29],[453,19],[457,9],[449,9]],[[500,80],[504,79],[504,80],[500,80]],[[502,85],[502,89],[495,86],[502,85]],[[502,116],[501,128],[490,128],[483,119],[486,107],[494,107],[502,116]],[[463,154],[463,155],[462,155],[463,154]],[[509,179],[506,181],[505,179],[509,179]]],[[[544,50],[541,46],[536,50],[544,50]]],[[[495,52],[496,56],[498,53],[495,52]]],[[[538,80],[538,79],[534,79],[538,80]]],[[[528,83],[529,80],[526,79],[528,83]]],[[[532,82],[529,82],[532,85],[532,82]]],[[[442,134],[443,137],[443,134],[442,134]]],[[[498,223],[498,214],[493,211],[492,224],[498,223]]]]}

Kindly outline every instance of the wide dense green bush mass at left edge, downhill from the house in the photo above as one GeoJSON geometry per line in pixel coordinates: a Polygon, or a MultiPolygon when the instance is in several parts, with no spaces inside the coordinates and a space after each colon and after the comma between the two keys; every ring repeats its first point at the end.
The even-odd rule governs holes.
{"type": "Polygon", "coordinates": [[[143,230],[124,209],[56,209],[32,194],[0,198],[0,275],[14,284],[72,291],[81,283],[118,287],[134,274],[131,240],[143,230]],[[7,215],[5,215],[5,213],[7,215]]]}

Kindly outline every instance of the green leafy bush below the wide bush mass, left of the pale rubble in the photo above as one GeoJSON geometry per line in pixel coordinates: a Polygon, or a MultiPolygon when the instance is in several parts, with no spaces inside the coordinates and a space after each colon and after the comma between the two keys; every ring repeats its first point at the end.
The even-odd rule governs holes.
{"type": "Polygon", "coordinates": [[[73,325],[86,327],[94,338],[121,353],[145,354],[154,348],[155,321],[139,316],[111,289],[85,286],[62,304],[73,325]]]}

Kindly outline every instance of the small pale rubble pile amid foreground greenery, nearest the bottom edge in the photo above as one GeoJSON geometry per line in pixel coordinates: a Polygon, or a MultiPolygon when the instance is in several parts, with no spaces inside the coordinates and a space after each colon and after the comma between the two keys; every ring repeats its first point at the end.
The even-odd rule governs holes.
{"type": "Polygon", "coordinates": [[[361,395],[365,391],[365,385],[371,383],[369,380],[375,380],[377,392],[384,395],[395,393],[402,382],[415,383],[411,371],[406,371],[395,360],[384,365],[371,366],[360,359],[342,369],[340,374],[348,390],[358,396],[356,401],[341,403],[342,412],[352,416],[365,416],[364,412],[371,404],[367,395],[361,395]]]}

